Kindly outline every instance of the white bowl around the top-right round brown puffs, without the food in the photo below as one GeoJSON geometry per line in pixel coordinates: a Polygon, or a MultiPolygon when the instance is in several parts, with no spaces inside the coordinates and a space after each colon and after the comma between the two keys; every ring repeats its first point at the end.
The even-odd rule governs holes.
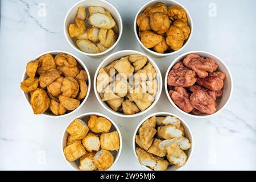
{"type": "Polygon", "coordinates": [[[189,41],[191,40],[191,37],[192,37],[192,34],[193,34],[193,21],[192,21],[192,18],[191,18],[191,15],[189,14],[188,10],[185,9],[185,7],[183,5],[181,5],[179,2],[177,1],[174,1],[174,0],[152,0],[152,1],[149,1],[147,2],[145,5],[143,5],[141,7],[141,9],[139,9],[137,15],[135,16],[135,19],[134,19],[134,33],[135,33],[135,36],[139,42],[139,44],[141,45],[142,49],[144,51],[146,51],[147,53],[149,53],[150,55],[152,56],[155,56],[155,57],[165,57],[165,56],[170,56],[170,55],[174,55],[175,53],[177,52],[180,52],[184,47],[187,46],[187,44],[189,43],[189,41]],[[146,48],[142,42],[141,42],[141,39],[139,39],[139,35],[138,35],[138,26],[137,26],[137,23],[136,23],[136,20],[137,20],[137,17],[140,13],[142,13],[142,11],[144,11],[144,9],[146,9],[147,6],[149,5],[153,5],[154,3],[156,2],[163,2],[164,4],[166,4],[166,6],[173,6],[173,5],[177,5],[177,6],[181,6],[183,7],[183,9],[186,11],[187,13],[187,18],[188,18],[188,26],[191,28],[191,33],[189,35],[189,38],[188,40],[185,40],[184,44],[183,44],[183,47],[181,47],[179,50],[177,51],[173,51],[173,52],[170,52],[170,53],[158,53],[158,52],[155,52],[155,51],[152,51],[151,49],[148,49],[146,48]]]}

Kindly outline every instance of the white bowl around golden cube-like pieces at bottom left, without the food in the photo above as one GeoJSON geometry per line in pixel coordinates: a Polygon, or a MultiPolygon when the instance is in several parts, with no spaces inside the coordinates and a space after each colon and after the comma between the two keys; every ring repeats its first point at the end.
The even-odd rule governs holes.
{"type": "MultiPolygon", "coordinates": [[[[104,117],[104,118],[108,119],[112,123],[112,127],[111,127],[109,132],[112,132],[112,131],[117,131],[118,132],[119,140],[120,140],[120,148],[119,148],[118,152],[117,151],[110,151],[110,152],[112,152],[112,154],[114,156],[114,163],[112,165],[112,167],[113,167],[114,164],[117,163],[117,160],[118,160],[118,158],[119,158],[119,156],[121,154],[121,151],[122,151],[122,136],[121,136],[121,132],[120,132],[120,130],[118,129],[117,125],[115,124],[115,122],[112,119],[110,119],[108,116],[106,116],[104,114],[101,114],[101,113],[84,113],[84,114],[81,114],[81,115],[79,115],[78,117],[76,117],[74,119],[82,119],[82,121],[86,122],[86,124],[87,124],[90,115],[97,115],[97,116],[101,116],[101,117],[104,117]]],[[[72,119],[72,121],[74,119],[72,119]]],[[[71,122],[68,123],[67,127],[71,124],[71,122]]],[[[61,138],[61,153],[63,155],[63,158],[64,158],[65,162],[67,162],[69,164],[69,166],[71,166],[76,171],[81,171],[79,169],[79,162],[77,160],[74,161],[74,162],[69,162],[65,158],[65,155],[64,155],[64,148],[67,146],[66,142],[67,142],[67,138],[68,138],[67,127],[65,128],[65,130],[63,132],[63,135],[62,135],[62,138],[61,138]]],[[[112,167],[110,167],[108,170],[111,170],[112,167]]]]}

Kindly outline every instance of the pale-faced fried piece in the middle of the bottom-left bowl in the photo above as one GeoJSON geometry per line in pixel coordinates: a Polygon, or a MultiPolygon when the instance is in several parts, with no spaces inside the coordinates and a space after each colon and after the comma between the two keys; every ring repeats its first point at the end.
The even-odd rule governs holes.
{"type": "Polygon", "coordinates": [[[82,139],[82,145],[86,151],[99,151],[100,150],[100,138],[97,135],[89,133],[82,139]]]}

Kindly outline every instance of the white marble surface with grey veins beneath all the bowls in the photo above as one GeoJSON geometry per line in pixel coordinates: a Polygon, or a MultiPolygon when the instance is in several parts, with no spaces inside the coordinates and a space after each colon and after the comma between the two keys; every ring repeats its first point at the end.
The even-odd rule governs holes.
{"type": "MultiPolygon", "coordinates": [[[[64,16],[75,2],[77,0],[1,1],[0,169],[71,170],[61,155],[61,135],[72,118],[88,111],[104,113],[118,123],[123,136],[123,150],[113,168],[115,170],[144,169],[135,159],[131,140],[141,119],[156,111],[177,114],[191,127],[195,150],[184,170],[256,169],[256,1],[179,0],[191,12],[195,24],[191,42],[180,53],[196,49],[212,52],[220,56],[233,73],[232,100],[216,117],[186,117],[171,106],[163,90],[158,104],[147,114],[133,119],[119,118],[101,107],[93,89],[86,104],[70,117],[50,119],[34,115],[19,88],[28,61],[44,51],[63,49],[84,60],[93,78],[102,60],[81,55],[64,38],[64,16]],[[46,5],[46,16],[39,11],[42,5],[46,5]],[[212,6],[217,7],[216,16],[209,16],[209,7],[212,6]]],[[[124,26],[115,51],[142,51],[134,36],[133,21],[139,8],[147,1],[109,2],[119,10],[124,26]]],[[[153,58],[163,76],[177,56],[153,58]]]]}

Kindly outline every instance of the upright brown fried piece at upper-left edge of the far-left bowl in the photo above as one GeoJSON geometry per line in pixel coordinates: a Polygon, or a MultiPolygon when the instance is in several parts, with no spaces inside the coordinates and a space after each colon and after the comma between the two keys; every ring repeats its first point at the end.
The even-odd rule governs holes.
{"type": "Polygon", "coordinates": [[[55,61],[50,53],[41,56],[39,59],[39,67],[37,72],[39,75],[46,73],[49,69],[56,68],[55,61]]]}

